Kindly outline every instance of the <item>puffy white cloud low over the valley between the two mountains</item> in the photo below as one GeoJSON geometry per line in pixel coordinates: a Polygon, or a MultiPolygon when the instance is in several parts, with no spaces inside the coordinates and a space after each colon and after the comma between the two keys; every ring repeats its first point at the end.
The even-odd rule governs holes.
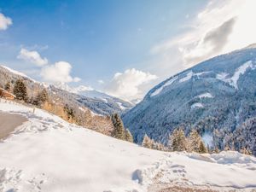
{"type": "Polygon", "coordinates": [[[108,94],[125,100],[141,98],[145,91],[145,84],[157,79],[151,73],[144,73],[135,68],[127,69],[124,73],[115,73],[111,82],[107,85],[108,94]]]}

